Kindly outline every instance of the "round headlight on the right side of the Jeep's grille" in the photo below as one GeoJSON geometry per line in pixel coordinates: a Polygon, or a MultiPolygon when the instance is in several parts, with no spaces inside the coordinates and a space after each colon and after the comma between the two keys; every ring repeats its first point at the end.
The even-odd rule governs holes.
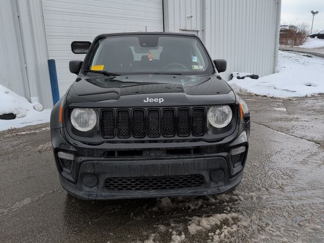
{"type": "Polygon", "coordinates": [[[232,120],[232,109],[228,105],[217,105],[209,108],[208,121],[215,128],[224,128],[232,120]]]}

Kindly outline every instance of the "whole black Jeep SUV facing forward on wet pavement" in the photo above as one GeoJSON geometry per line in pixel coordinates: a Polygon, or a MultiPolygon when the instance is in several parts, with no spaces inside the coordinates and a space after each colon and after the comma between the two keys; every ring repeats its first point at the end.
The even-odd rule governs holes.
{"type": "Polygon", "coordinates": [[[219,194],[242,179],[250,112],[193,34],[101,34],[54,106],[64,189],[84,199],[219,194]]]}

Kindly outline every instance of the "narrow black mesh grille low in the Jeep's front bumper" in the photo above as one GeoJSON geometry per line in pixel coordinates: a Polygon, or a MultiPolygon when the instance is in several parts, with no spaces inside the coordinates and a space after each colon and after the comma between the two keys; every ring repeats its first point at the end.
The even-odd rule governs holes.
{"type": "Polygon", "coordinates": [[[168,190],[201,187],[205,185],[203,175],[163,177],[113,177],[107,178],[108,190],[168,190]]]}

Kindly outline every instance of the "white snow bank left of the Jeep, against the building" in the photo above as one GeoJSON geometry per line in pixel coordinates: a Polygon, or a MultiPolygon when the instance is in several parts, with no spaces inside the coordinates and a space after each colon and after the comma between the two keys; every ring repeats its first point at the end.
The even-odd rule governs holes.
{"type": "Polygon", "coordinates": [[[29,103],[27,99],[17,95],[11,90],[0,85],[0,114],[14,113],[16,119],[0,119],[0,131],[21,128],[29,125],[48,123],[50,121],[51,109],[41,109],[39,103],[29,103]]]}

